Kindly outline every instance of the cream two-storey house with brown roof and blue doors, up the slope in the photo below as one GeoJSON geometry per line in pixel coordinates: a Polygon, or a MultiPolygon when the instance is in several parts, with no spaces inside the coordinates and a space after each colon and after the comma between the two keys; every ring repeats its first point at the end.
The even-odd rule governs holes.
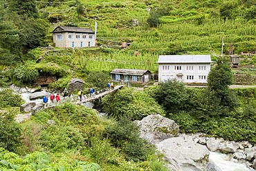
{"type": "Polygon", "coordinates": [[[95,32],[90,28],[57,26],[52,33],[58,48],[95,47],[95,32]]]}

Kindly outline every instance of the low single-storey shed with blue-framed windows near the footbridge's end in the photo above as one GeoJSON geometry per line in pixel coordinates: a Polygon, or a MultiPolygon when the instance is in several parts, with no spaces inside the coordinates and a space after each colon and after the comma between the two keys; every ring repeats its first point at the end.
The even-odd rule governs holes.
{"type": "Polygon", "coordinates": [[[111,81],[125,81],[131,83],[147,83],[151,79],[149,70],[114,69],[110,72],[111,81]]]}

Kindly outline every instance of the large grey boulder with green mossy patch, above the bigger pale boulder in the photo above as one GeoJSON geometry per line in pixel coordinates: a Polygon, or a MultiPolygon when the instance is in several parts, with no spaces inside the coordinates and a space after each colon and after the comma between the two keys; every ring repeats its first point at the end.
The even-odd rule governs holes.
{"type": "Polygon", "coordinates": [[[159,143],[164,139],[176,137],[179,133],[179,125],[160,114],[149,115],[137,123],[140,126],[140,137],[151,143],[159,143]]]}

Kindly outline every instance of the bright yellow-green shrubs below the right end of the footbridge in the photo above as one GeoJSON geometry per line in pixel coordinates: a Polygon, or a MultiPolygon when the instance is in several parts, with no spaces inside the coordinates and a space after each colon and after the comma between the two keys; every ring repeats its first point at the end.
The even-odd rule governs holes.
{"type": "Polygon", "coordinates": [[[124,88],[116,94],[109,94],[102,99],[103,110],[116,119],[123,117],[140,120],[150,114],[164,115],[164,111],[149,94],[124,88]]]}

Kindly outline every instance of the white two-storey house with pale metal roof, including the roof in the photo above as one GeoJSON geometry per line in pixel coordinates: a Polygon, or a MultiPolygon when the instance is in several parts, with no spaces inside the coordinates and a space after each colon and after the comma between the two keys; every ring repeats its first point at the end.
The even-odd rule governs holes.
{"type": "Polygon", "coordinates": [[[184,83],[207,83],[210,72],[210,54],[160,55],[158,58],[158,81],[177,79],[184,83]]]}

